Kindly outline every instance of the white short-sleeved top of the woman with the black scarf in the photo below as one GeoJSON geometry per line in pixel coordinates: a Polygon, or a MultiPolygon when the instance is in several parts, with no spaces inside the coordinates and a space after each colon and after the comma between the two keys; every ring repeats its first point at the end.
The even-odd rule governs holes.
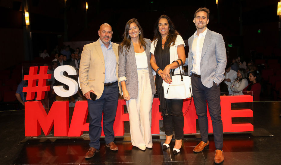
{"type": "MultiPolygon", "coordinates": [[[[150,53],[154,54],[154,50],[157,44],[157,39],[155,41],[151,42],[151,47],[150,47],[150,53]]],[[[172,43],[173,44],[173,43],[172,43]]],[[[177,52],[177,48],[179,45],[183,45],[186,46],[184,44],[183,38],[182,36],[178,35],[176,37],[176,41],[175,41],[175,45],[170,47],[170,63],[173,63],[173,61],[178,60],[178,52],[177,52]]],[[[182,66],[180,66],[180,69],[182,70],[182,66]]],[[[176,68],[175,69],[175,74],[179,74],[180,73],[180,69],[176,68]]]]}

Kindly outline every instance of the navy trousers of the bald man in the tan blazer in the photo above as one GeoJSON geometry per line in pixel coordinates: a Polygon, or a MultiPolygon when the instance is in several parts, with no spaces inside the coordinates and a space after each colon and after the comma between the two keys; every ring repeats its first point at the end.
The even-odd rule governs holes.
{"type": "Polygon", "coordinates": [[[118,82],[105,86],[101,97],[95,101],[88,99],[90,115],[89,136],[90,147],[100,148],[101,117],[103,113],[103,131],[106,144],[114,141],[113,123],[118,104],[118,82]]]}

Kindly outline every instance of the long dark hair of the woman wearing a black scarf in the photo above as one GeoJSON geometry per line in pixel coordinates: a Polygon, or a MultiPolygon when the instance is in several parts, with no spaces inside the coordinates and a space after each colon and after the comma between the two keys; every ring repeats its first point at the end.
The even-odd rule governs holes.
{"type": "Polygon", "coordinates": [[[153,37],[153,40],[152,40],[152,41],[154,41],[154,44],[155,44],[155,40],[156,40],[156,39],[158,39],[158,41],[161,40],[161,34],[160,34],[160,32],[159,32],[159,27],[158,27],[158,23],[159,23],[159,20],[160,20],[161,18],[165,18],[165,19],[168,20],[168,24],[169,24],[169,33],[168,33],[168,35],[167,35],[167,39],[169,38],[169,39],[170,39],[170,40],[169,40],[170,42],[169,42],[169,44],[167,44],[167,47],[171,47],[171,46],[175,45],[176,37],[177,37],[177,35],[179,35],[179,32],[176,31],[175,25],[174,25],[174,23],[171,21],[170,17],[168,17],[168,16],[166,16],[166,15],[164,15],[164,14],[161,15],[161,16],[158,18],[158,20],[155,22],[155,25],[154,25],[154,37],[153,37]],[[172,44],[172,43],[173,43],[173,44],[172,44]]]}

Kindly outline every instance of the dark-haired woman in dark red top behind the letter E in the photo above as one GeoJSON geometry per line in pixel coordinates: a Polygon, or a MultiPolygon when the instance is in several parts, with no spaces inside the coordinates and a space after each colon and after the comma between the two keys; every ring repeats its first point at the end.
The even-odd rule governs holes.
{"type": "Polygon", "coordinates": [[[256,71],[252,71],[249,73],[249,80],[251,83],[243,89],[243,94],[245,95],[252,95],[253,101],[260,101],[260,94],[261,94],[261,84],[260,75],[256,71]]]}

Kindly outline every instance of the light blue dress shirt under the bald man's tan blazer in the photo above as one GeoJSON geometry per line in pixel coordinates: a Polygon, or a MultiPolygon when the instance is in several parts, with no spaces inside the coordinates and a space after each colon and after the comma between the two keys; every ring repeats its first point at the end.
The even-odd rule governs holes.
{"type": "Polygon", "coordinates": [[[103,53],[103,57],[105,59],[105,83],[111,83],[117,81],[116,76],[116,56],[112,48],[111,41],[109,41],[108,48],[105,47],[105,44],[101,42],[99,39],[99,43],[101,44],[101,50],[103,53]]]}

